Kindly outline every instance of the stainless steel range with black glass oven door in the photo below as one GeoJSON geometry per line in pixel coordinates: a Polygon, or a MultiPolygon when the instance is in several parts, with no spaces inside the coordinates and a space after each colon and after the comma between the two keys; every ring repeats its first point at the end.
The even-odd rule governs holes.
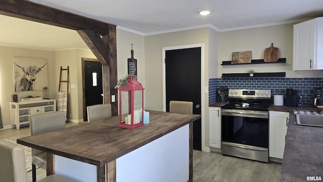
{"type": "Polygon", "coordinates": [[[222,154],[268,162],[271,90],[229,89],[221,107],[222,154]]]}

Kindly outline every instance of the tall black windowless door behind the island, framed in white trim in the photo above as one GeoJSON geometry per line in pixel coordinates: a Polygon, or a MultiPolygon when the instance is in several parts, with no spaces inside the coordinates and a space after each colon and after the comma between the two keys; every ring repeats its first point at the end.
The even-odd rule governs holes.
{"type": "MultiPolygon", "coordinates": [[[[201,48],[166,51],[166,111],[170,101],[193,102],[201,114],[201,48]]],[[[193,123],[193,149],[201,150],[201,119],[193,123]]]]}

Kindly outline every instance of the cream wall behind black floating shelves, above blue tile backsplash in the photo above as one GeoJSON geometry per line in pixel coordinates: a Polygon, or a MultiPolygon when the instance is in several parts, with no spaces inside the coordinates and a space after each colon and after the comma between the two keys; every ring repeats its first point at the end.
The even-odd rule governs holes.
{"type": "Polygon", "coordinates": [[[219,33],[218,77],[222,73],[286,72],[286,77],[323,77],[323,71],[293,71],[293,24],[250,28],[219,33]],[[264,50],[279,48],[279,57],[286,63],[221,66],[222,61],[230,61],[233,52],[252,51],[252,59],[263,59],[264,50]]]}

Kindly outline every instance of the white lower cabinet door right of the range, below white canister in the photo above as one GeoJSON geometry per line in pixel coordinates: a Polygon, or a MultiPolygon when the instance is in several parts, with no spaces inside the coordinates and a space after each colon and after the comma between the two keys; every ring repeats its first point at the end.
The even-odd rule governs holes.
{"type": "Polygon", "coordinates": [[[283,159],[288,112],[269,112],[269,156],[283,159]]]}

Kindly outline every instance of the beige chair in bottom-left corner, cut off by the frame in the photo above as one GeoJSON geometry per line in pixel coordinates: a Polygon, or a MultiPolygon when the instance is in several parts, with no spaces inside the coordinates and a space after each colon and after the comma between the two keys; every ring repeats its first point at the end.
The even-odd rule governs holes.
{"type": "MultiPolygon", "coordinates": [[[[0,140],[0,181],[27,182],[26,160],[24,149],[17,145],[0,140]]],[[[66,177],[52,174],[38,182],[68,182],[66,177]]]]}

